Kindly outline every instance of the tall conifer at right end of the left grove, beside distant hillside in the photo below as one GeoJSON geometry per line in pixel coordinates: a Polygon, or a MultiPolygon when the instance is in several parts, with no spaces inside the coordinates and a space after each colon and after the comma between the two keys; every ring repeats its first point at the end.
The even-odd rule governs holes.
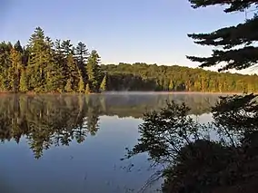
{"type": "Polygon", "coordinates": [[[95,50],[93,50],[87,63],[88,81],[93,92],[98,92],[98,82],[101,73],[99,63],[100,56],[95,50]]]}

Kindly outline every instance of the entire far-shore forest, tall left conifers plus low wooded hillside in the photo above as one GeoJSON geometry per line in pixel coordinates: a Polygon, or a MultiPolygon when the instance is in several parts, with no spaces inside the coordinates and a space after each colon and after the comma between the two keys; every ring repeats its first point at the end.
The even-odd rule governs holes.
{"type": "Polygon", "coordinates": [[[0,92],[258,92],[257,74],[147,63],[102,64],[85,43],[51,40],[35,28],[28,43],[0,43],[0,92]]]}

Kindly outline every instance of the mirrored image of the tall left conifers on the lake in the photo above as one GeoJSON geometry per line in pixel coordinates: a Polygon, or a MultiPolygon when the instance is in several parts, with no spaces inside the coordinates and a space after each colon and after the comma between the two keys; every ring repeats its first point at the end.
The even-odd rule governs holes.
{"type": "Polygon", "coordinates": [[[98,130],[99,104],[89,105],[83,95],[11,95],[0,102],[0,139],[19,143],[25,136],[36,159],[51,146],[81,143],[98,130]]]}

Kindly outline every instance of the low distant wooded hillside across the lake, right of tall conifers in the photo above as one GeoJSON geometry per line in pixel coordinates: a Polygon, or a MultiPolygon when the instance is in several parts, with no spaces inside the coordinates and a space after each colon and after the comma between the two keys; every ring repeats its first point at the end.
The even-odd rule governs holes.
{"type": "Polygon", "coordinates": [[[258,92],[258,76],[146,63],[101,65],[109,91],[258,92]],[[239,83],[242,82],[242,83],[239,83]]]}

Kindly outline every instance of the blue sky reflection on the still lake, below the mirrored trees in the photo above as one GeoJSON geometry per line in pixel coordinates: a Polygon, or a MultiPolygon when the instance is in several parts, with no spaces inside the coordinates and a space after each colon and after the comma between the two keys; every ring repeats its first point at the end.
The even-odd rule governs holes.
{"type": "Polygon", "coordinates": [[[0,186],[6,190],[9,185],[13,190],[6,192],[19,193],[125,192],[124,186],[140,188],[150,175],[144,169],[137,170],[148,166],[145,156],[134,159],[132,173],[120,169],[129,164],[120,159],[124,148],[135,144],[139,123],[141,120],[103,116],[96,136],[88,137],[83,144],[72,142],[69,147],[45,150],[38,160],[25,139],[19,145],[6,142],[0,146],[0,179],[5,183],[0,186]]]}

